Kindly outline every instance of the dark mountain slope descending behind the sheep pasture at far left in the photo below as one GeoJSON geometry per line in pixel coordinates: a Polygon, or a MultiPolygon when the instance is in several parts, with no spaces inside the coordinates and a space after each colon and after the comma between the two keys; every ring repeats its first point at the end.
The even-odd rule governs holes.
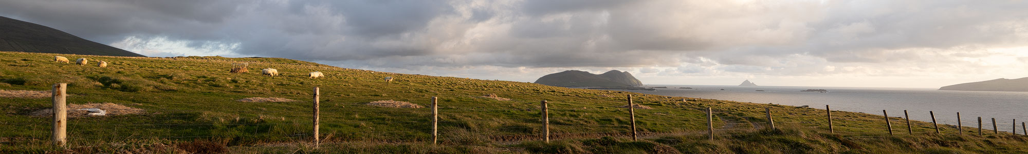
{"type": "Polygon", "coordinates": [[[0,16],[0,51],[144,56],[61,30],[4,16],[0,16]]]}

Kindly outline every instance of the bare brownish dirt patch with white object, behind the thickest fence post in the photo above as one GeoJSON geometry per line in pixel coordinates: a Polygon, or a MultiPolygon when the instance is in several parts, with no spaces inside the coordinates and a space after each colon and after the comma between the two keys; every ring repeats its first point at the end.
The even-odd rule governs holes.
{"type": "MultiPolygon", "coordinates": [[[[85,112],[84,110],[78,110],[78,109],[88,109],[88,108],[96,108],[96,109],[104,110],[105,112],[107,112],[107,116],[135,115],[135,114],[143,114],[143,112],[144,112],[143,109],[138,109],[138,108],[133,108],[133,107],[125,107],[125,106],[122,106],[122,105],[112,104],[112,103],[84,104],[84,105],[69,104],[68,105],[68,117],[69,118],[91,117],[91,116],[86,115],[88,113],[85,112]]],[[[53,116],[53,109],[36,110],[35,112],[29,113],[29,115],[30,116],[37,116],[37,117],[52,117],[53,116]]]]}

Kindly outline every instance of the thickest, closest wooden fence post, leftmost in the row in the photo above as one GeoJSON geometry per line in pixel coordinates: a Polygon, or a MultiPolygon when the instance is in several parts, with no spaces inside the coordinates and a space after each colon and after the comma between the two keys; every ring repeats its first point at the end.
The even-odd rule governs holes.
{"type": "Polygon", "coordinates": [[[52,102],[53,102],[53,145],[58,147],[65,147],[68,143],[68,106],[66,104],[68,93],[68,83],[58,83],[53,84],[52,89],[52,102]]]}

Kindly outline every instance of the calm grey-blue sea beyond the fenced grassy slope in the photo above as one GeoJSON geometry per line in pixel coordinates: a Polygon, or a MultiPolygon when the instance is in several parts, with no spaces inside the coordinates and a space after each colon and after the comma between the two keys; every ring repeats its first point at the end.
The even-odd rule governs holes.
{"type": "MultiPolygon", "coordinates": [[[[882,115],[882,110],[886,110],[890,117],[903,117],[904,110],[907,110],[911,120],[927,122],[931,122],[928,112],[933,111],[935,120],[940,124],[953,125],[957,124],[957,112],[960,112],[964,126],[977,127],[978,117],[982,117],[984,129],[989,130],[992,129],[990,118],[996,118],[1000,131],[1011,131],[1013,120],[1018,119],[1016,123],[1018,133],[1024,133],[1020,123],[1028,122],[1028,92],[802,86],[647,85],[646,87],[657,86],[669,88],[657,88],[657,91],[626,91],[758,104],[810,106],[817,109],[824,109],[824,105],[831,105],[832,110],[876,115],[882,115]],[[805,89],[827,89],[829,92],[800,91],[805,89]]],[[[893,125],[901,123],[902,121],[893,125]]]]}

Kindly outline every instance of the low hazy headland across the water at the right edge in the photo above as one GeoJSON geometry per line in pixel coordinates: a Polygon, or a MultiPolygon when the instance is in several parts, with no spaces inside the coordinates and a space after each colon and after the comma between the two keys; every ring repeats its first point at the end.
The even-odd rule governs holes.
{"type": "Polygon", "coordinates": [[[1028,91],[1028,78],[995,79],[981,82],[961,83],[943,86],[939,90],[964,91],[1028,91]]]}

